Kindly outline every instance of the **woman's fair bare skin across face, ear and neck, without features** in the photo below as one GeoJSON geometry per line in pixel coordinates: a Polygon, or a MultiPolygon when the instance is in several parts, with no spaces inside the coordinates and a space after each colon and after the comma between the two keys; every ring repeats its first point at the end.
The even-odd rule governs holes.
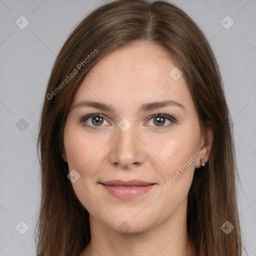
{"type": "Polygon", "coordinates": [[[193,254],[186,232],[187,193],[200,159],[208,160],[213,133],[209,128],[200,135],[191,94],[183,76],[174,80],[169,75],[173,67],[164,49],[141,42],[104,56],[76,91],[64,127],[62,157],[69,171],[80,175],[72,187],[89,212],[91,241],[79,256],[193,254]],[[114,112],[74,107],[82,100],[104,102],[114,112]],[[174,100],[184,109],[169,105],[138,111],[143,103],[163,100],[174,100]],[[93,117],[81,121],[90,113],[103,116],[99,126],[93,117]],[[157,126],[157,117],[150,116],[158,113],[176,121],[163,118],[157,126]],[[127,131],[118,126],[123,118],[131,124],[127,131]],[[196,152],[200,156],[149,201],[196,152]],[[141,179],[155,185],[135,198],[120,199],[99,183],[113,179],[141,179]],[[118,228],[123,221],[128,223],[126,233],[118,228]]]}

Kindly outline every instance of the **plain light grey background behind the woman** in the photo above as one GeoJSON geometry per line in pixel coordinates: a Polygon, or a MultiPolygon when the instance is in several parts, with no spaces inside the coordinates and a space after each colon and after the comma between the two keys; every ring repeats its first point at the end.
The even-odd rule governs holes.
{"type": "MultiPolygon", "coordinates": [[[[173,2],[196,21],[219,63],[234,123],[242,234],[248,255],[256,255],[256,0],[173,2]],[[220,23],[226,15],[234,21],[229,29],[220,23]]],[[[40,192],[35,146],[43,94],[69,32],[101,3],[0,0],[0,256],[34,255],[40,192]],[[29,21],[24,29],[15,23],[21,15],[29,21]],[[20,126],[21,118],[28,127],[20,126]],[[22,220],[29,226],[24,234],[22,220]]]]}

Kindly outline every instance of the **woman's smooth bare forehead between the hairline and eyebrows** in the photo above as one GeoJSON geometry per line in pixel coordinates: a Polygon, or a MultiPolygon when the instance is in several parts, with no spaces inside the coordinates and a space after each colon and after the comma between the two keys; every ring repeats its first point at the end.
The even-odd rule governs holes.
{"type": "Polygon", "coordinates": [[[121,109],[156,100],[193,104],[184,77],[169,72],[175,62],[160,46],[139,43],[115,49],[99,60],[79,85],[73,104],[100,100],[121,109]]]}

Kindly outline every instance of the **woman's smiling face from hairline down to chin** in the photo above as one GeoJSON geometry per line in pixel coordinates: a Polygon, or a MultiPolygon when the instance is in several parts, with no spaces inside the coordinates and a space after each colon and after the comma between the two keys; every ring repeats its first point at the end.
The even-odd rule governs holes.
{"type": "Polygon", "coordinates": [[[191,94],[182,75],[169,74],[175,64],[166,56],[144,43],[108,53],[81,82],[65,123],[62,157],[75,170],[74,192],[116,232],[142,232],[184,212],[194,169],[207,160],[191,94]]]}

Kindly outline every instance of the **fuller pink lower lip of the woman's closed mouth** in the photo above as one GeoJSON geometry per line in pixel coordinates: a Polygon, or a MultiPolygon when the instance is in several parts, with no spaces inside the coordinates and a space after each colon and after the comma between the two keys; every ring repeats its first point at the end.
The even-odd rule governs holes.
{"type": "Polygon", "coordinates": [[[130,199],[134,198],[140,194],[146,193],[149,191],[154,184],[145,185],[145,186],[114,186],[114,185],[105,185],[100,183],[110,194],[121,199],[130,199]]]}

